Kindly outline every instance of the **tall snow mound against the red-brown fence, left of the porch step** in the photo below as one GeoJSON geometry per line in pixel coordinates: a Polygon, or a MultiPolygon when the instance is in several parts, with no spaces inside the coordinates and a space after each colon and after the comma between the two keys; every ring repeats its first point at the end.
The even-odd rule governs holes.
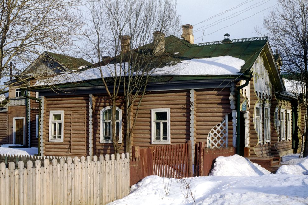
{"type": "Polygon", "coordinates": [[[216,158],[211,176],[261,176],[270,172],[239,155],[216,158]]]}

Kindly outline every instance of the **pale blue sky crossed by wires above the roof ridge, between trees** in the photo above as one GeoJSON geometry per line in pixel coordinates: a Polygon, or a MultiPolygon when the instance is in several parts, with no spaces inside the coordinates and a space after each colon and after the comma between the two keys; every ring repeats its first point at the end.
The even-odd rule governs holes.
{"type": "Polygon", "coordinates": [[[183,24],[194,26],[195,43],[201,43],[203,30],[203,42],[222,40],[225,33],[230,39],[261,36],[255,28],[264,32],[263,17],[275,7],[277,0],[178,0],[177,12],[183,24]]]}

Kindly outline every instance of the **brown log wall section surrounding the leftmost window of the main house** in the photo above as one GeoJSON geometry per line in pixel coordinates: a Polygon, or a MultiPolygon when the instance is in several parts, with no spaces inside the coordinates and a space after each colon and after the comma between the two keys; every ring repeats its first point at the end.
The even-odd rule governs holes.
{"type": "Polygon", "coordinates": [[[44,155],[88,155],[89,96],[49,97],[44,99],[44,155]],[[49,111],[64,111],[64,141],[49,142],[49,111]],[[74,128],[74,131],[72,131],[74,128]]]}

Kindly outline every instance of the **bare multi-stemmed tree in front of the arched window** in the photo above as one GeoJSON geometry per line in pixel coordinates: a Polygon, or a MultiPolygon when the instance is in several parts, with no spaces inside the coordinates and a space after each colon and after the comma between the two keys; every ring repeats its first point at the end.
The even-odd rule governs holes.
{"type": "Polygon", "coordinates": [[[88,57],[92,61],[100,62],[97,66],[113,105],[111,138],[116,153],[124,145],[124,140],[118,143],[119,135],[115,130],[116,102],[125,102],[126,133],[123,138],[125,151],[130,152],[132,133],[150,74],[161,65],[160,58],[168,58],[160,40],[164,40],[165,34],[176,34],[180,29],[176,2],[92,0],[89,5],[91,23],[84,29],[87,39],[84,52],[90,54],[88,57]],[[153,32],[158,39],[154,43],[153,32]]]}

